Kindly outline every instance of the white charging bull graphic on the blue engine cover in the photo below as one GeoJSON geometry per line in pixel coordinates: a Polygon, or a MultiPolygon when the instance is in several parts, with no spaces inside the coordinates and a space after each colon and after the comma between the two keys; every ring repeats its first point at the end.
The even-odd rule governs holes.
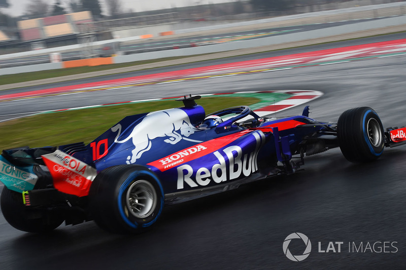
{"type": "Polygon", "coordinates": [[[136,163],[144,152],[151,149],[151,140],[158,137],[168,137],[163,141],[171,144],[176,144],[182,139],[201,142],[186,138],[196,130],[198,129],[190,123],[187,113],[179,108],[148,113],[141,123],[133,128],[131,134],[123,140],[118,140],[118,137],[121,135],[121,124],[111,128],[112,132],[118,131],[114,142],[124,143],[132,139],[134,149],[131,151],[132,155],[127,157],[127,164],[136,163]],[[157,123],[159,123],[159,125],[154,125],[157,123]]]}

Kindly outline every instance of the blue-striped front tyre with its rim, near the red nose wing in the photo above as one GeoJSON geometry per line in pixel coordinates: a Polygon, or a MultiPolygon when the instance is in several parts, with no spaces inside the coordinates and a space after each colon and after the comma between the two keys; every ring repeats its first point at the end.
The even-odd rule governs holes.
{"type": "Polygon", "coordinates": [[[343,112],[337,123],[337,137],[341,152],[351,162],[376,160],[384,150],[382,122],[375,110],[369,107],[343,112]]]}

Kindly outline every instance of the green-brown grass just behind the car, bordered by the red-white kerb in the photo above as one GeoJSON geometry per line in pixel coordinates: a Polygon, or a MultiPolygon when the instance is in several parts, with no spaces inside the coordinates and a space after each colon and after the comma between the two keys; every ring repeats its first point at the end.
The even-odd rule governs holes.
{"type": "MultiPolygon", "coordinates": [[[[233,106],[257,103],[257,98],[203,97],[197,103],[206,113],[233,106]]],[[[0,150],[21,146],[57,146],[90,143],[127,115],[182,107],[180,101],[164,100],[96,108],[42,113],[0,123],[0,150]]],[[[156,123],[159,129],[159,123],[156,123]]]]}

